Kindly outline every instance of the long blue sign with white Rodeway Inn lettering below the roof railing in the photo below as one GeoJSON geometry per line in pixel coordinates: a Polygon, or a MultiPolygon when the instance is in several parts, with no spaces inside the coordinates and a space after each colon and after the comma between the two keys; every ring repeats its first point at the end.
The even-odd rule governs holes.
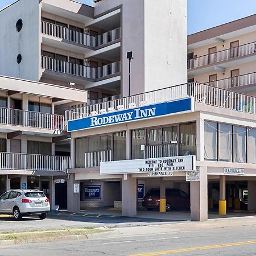
{"type": "Polygon", "coordinates": [[[180,100],[126,109],[119,112],[95,115],[93,117],[68,121],[68,131],[84,130],[93,127],[160,117],[162,115],[190,112],[193,111],[193,106],[193,98],[182,98],[180,100]]]}

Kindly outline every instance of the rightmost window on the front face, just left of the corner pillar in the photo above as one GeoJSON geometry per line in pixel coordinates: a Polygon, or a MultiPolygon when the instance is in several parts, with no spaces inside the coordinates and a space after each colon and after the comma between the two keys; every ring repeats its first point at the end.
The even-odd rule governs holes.
{"type": "Polygon", "coordinates": [[[196,155],[196,123],[180,125],[180,155],[196,155]]]}

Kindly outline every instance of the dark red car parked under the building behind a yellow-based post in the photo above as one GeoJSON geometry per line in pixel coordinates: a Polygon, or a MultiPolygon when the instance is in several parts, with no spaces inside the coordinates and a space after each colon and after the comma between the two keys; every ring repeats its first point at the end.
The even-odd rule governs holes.
{"type": "MultiPolygon", "coordinates": [[[[144,196],[142,205],[147,210],[159,208],[160,188],[152,188],[144,196]]],[[[189,209],[190,197],[187,193],[177,188],[166,188],[166,210],[189,209]]]]}

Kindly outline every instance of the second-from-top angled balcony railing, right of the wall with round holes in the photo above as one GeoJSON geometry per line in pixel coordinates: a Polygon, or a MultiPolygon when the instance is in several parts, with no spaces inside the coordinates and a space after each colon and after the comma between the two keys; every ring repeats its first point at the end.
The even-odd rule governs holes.
{"type": "Polygon", "coordinates": [[[51,57],[47,56],[41,56],[41,67],[51,71],[96,80],[119,73],[120,61],[103,65],[98,68],[92,68],[84,65],[73,64],[63,60],[52,59],[51,57]]]}

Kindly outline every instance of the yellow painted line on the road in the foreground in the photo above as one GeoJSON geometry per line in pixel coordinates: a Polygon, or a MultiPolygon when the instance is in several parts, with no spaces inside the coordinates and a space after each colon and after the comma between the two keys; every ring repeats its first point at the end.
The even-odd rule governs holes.
{"type": "Polygon", "coordinates": [[[236,243],[224,243],[220,245],[209,245],[209,246],[201,246],[201,247],[191,247],[191,248],[183,248],[183,249],[175,249],[175,250],[167,250],[167,251],[155,251],[155,253],[141,253],[134,254],[130,256],[155,256],[155,255],[164,255],[164,254],[174,254],[174,253],[187,253],[188,251],[199,251],[199,250],[209,250],[209,249],[217,249],[223,247],[230,246],[239,246],[239,245],[250,245],[256,243],[256,240],[246,241],[246,242],[236,242],[236,243]]]}

